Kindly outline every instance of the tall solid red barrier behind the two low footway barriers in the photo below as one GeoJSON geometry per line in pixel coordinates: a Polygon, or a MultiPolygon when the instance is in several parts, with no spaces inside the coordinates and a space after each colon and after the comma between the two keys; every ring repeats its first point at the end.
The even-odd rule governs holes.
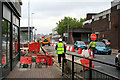
{"type": "Polygon", "coordinates": [[[40,43],[38,43],[38,42],[29,43],[29,51],[30,52],[39,52],[40,51],[40,43]]]}

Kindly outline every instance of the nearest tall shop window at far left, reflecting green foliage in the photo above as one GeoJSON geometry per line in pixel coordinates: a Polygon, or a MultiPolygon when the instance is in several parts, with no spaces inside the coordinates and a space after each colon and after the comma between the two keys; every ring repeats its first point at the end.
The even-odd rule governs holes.
{"type": "Polygon", "coordinates": [[[10,60],[10,23],[2,20],[2,66],[10,60]]]}

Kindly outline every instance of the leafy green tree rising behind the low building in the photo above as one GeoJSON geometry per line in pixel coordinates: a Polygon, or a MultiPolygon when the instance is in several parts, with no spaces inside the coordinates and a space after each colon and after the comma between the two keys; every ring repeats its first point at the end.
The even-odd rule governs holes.
{"type": "Polygon", "coordinates": [[[80,18],[80,20],[77,20],[76,18],[71,17],[64,17],[64,19],[61,19],[57,24],[57,32],[59,35],[62,35],[67,31],[67,28],[82,28],[82,23],[86,21],[86,18],[80,18]]]}

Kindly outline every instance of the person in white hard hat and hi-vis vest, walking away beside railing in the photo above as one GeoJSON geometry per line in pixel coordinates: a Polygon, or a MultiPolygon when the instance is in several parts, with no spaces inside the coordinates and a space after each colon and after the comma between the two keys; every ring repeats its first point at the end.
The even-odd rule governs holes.
{"type": "Polygon", "coordinates": [[[59,43],[56,44],[55,50],[57,50],[58,54],[58,63],[59,66],[61,67],[61,57],[65,58],[65,53],[66,53],[66,47],[65,44],[62,42],[62,39],[59,39],[59,43]]]}

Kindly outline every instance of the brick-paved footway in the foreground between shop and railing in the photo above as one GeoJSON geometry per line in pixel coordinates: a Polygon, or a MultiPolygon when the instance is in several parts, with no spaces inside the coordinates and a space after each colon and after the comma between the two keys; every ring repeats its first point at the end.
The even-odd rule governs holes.
{"type": "Polygon", "coordinates": [[[54,78],[64,79],[62,72],[55,66],[42,66],[42,68],[35,68],[35,63],[32,68],[19,68],[19,63],[6,78],[54,78]]]}

